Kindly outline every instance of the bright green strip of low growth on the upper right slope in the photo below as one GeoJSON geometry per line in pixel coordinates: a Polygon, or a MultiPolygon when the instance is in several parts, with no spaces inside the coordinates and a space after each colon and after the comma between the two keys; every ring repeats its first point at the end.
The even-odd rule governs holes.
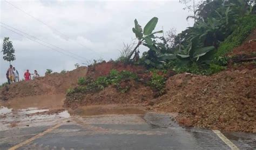
{"type": "Polygon", "coordinates": [[[233,33],[220,44],[215,57],[223,57],[235,47],[239,46],[256,28],[256,15],[248,15],[239,19],[239,25],[233,33]]]}

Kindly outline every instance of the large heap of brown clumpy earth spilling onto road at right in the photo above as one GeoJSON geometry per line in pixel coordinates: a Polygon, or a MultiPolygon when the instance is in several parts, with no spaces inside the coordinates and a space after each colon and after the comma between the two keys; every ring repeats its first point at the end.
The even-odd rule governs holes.
{"type": "Polygon", "coordinates": [[[256,69],[228,70],[212,76],[177,74],[157,111],[178,112],[180,124],[225,131],[256,132],[256,69]]]}

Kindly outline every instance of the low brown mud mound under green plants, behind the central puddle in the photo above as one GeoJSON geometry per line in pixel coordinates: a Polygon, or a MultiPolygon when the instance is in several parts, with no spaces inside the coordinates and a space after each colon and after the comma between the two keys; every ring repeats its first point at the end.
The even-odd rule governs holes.
{"type": "Polygon", "coordinates": [[[78,106],[106,105],[106,104],[138,104],[147,105],[154,98],[154,93],[149,86],[129,81],[129,91],[122,93],[109,86],[97,93],[75,93],[66,97],[65,106],[77,108],[78,106]]]}

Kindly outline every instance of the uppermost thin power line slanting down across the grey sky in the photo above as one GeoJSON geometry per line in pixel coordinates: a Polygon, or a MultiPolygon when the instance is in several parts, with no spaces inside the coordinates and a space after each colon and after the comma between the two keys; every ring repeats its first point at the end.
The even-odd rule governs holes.
{"type": "MultiPolygon", "coordinates": [[[[6,0],[5,0],[5,2],[8,3],[8,4],[10,4],[10,5],[13,6],[14,8],[18,9],[19,11],[25,13],[26,15],[32,17],[33,19],[36,19],[36,21],[38,21],[38,22],[40,22],[40,23],[42,23],[42,24],[48,26],[48,28],[50,28],[51,30],[54,30],[54,31],[58,32],[60,35],[66,37],[66,38],[68,37],[68,36],[64,35],[62,32],[59,32],[58,30],[56,30],[55,28],[52,28],[50,25],[48,25],[48,24],[44,23],[43,21],[37,19],[36,17],[30,15],[28,12],[25,12],[24,10],[18,8],[18,7],[15,6],[14,4],[11,4],[10,2],[8,2],[8,1],[6,1],[6,0]]],[[[68,38],[69,38],[69,37],[68,37],[68,38]]],[[[76,42],[76,41],[75,41],[75,42],[76,42]]],[[[76,42],[76,43],[78,43],[79,45],[85,47],[87,50],[90,50],[90,51],[95,52],[95,53],[99,54],[100,56],[102,56],[102,54],[100,54],[100,53],[98,53],[98,52],[96,52],[96,51],[93,51],[93,50],[89,49],[88,47],[84,46],[83,44],[81,44],[81,43],[79,43],[79,42],[76,42]]]]}

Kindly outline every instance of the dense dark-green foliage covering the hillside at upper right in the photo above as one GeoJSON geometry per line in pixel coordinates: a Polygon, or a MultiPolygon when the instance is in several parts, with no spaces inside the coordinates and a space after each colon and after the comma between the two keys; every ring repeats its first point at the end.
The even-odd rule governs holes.
{"type": "MultiPolygon", "coordinates": [[[[149,47],[139,63],[148,68],[197,74],[221,71],[227,65],[225,54],[240,45],[256,28],[255,11],[255,3],[243,0],[205,1],[192,16],[195,20],[193,27],[177,36],[171,35],[171,44],[168,43],[169,38],[166,40],[165,37],[151,35],[146,39],[142,30],[139,33],[134,31],[136,26],[141,29],[136,20],[133,32],[140,41],[145,41],[143,45],[149,47]]],[[[154,29],[156,17],[147,24],[152,23],[152,20],[156,21],[152,24],[154,29]]]]}

